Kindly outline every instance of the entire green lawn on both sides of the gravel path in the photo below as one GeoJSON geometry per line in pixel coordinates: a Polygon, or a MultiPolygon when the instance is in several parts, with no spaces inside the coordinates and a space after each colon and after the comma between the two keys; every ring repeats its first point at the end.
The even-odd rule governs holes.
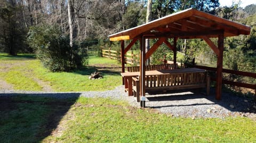
{"type": "MultiPolygon", "coordinates": [[[[0,54],[0,81],[14,89],[109,90],[121,85],[115,60],[91,56],[86,69],[47,71],[34,55],[0,54]],[[89,80],[95,70],[101,80],[89,80]],[[40,81],[40,82],[39,82],[40,81]]],[[[56,93],[57,94],[57,93],[56,93]]],[[[254,142],[256,124],[247,117],[172,117],[124,101],[79,97],[54,99],[15,94],[0,96],[1,142],[254,142]]],[[[61,95],[59,95],[61,96],[61,95]]]]}

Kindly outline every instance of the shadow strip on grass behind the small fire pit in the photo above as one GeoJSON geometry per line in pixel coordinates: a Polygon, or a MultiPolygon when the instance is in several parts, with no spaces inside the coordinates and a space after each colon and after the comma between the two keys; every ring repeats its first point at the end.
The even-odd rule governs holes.
{"type": "Polygon", "coordinates": [[[121,75],[120,71],[117,70],[118,68],[102,68],[102,67],[95,67],[95,66],[89,66],[87,68],[83,68],[81,70],[76,70],[74,73],[81,74],[81,75],[91,75],[91,73],[98,71],[102,72],[103,76],[105,74],[109,75],[121,75]]]}

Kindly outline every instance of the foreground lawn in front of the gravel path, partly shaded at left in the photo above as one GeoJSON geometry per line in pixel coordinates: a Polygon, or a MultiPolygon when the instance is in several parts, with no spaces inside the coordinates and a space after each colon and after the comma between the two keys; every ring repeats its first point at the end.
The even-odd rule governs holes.
{"type": "Polygon", "coordinates": [[[246,117],[171,117],[119,100],[0,97],[2,142],[254,142],[246,117]]]}

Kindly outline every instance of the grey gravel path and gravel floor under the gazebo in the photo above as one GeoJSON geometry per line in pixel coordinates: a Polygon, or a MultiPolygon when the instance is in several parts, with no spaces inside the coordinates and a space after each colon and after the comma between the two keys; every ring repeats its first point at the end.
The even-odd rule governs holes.
{"type": "MultiPolygon", "coordinates": [[[[114,90],[108,91],[86,91],[86,92],[42,92],[42,91],[20,91],[20,90],[0,90],[0,96],[33,95],[54,98],[69,97],[103,97],[111,99],[127,100],[132,106],[140,107],[135,102],[135,98],[127,96],[124,86],[118,86],[114,90]]],[[[215,99],[214,90],[211,95],[206,96],[197,90],[150,93],[146,97],[146,107],[155,108],[159,112],[170,114],[171,116],[182,117],[227,117],[227,116],[248,116],[256,119],[256,105],[253,99],[222,94],[222,100],[215,99]]]]}

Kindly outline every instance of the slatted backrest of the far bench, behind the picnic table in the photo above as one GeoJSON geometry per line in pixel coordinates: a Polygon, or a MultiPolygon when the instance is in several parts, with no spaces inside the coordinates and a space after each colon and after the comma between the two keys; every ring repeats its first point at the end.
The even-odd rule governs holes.
{"type": "MultiPolygon", "coordinates": [[[[153,70],[173,70],[178,67],[178,64],[174,66],[174,64],[158,64],[158,65],[146,65],[145,71],[153,71],[153,70]]],[[[140,66],[127,66],[127,72],[139,72],[140,66]]]]}

